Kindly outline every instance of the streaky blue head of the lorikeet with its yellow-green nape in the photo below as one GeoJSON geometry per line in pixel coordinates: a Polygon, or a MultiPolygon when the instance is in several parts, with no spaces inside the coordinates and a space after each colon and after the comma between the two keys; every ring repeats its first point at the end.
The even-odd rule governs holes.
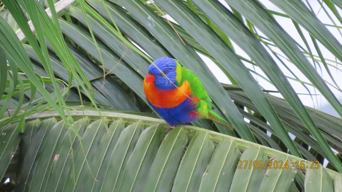
{"type": "MultiPolygon", "coordinates": [[[[153,63],[164,73],[173,84],[177,85],[181,77],[181,65],[173,58],[161,57],[153,63]]],[[[156,78],[154,85],[161,90],[173,90],[175,86],[153,64],[148,67],[148,74],[156,78]]]]}

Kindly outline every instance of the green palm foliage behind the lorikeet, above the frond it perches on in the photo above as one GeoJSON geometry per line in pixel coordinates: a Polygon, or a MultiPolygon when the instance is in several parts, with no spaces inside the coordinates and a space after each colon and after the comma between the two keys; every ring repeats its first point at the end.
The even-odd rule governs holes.
{"type": "MultiPolygon", "coordinates": [[[[72,115],[74,110],[85,113],[93,110],[98,113],[96,118],[100,119],[99,122],[107,122],[108,114],[102,115],[102,112],[108,110],[140,115],[141,118],[158,118],[146,104],[142,81],[148,65],[154,59],[169,56],[195,72],[212,97],[217,109],[215,112],[225,117],[235,127],[235,131],[206,120],[199,120],[193,125],[232,136],[227,136],[229,139],[241,138],[242,143],[258,143],[265,147],[257,144],[255,146],[264,151],[273,148],[274,151],[266,152],[268,157],[279,153],[276,151],[282,151],[282,155],[290,153],[298,160],[317,160],[323,164],[326,159],[329,161],[329,169],[342,171],[342,119],[303,106],[288,80],[302,83],[306,90],[309,90],[309,86],[315,87],[342,116],[341,103],[313,65],[319,65],[322,70],[326,70],[333,80],[330,87],[341,91],[340,82],[335,81],[330,73],[332,68],[340,70],[342,46],[336,39],[340,37],[333,36],[327,25],[312,12],[311,7],[301,1],[271,0],[285,14],[267,10],[255,0],[226,0],[232,11],[215,0],[156,0],[152,3],[141,0],[2,2],[0,127],[3,130],[17,129],[19,132],[12,130],[13,135],[18,135],[11,137],[13,140],[3,138],[9,145],[1,146],[2,154],[20,154],[22,149],[18,148],[18,144],[23,140],[21,136],[25,135],[25,127],[28,125],[25,118],[38,112],[56,112],[58,115],[50,116],[60,116],[59,120],[65,123],[65,126],[59,125],[59,128],[64,129],[70,138],[69,147],[73,145],[71,138],[75,134],[81,149],[84,147],[82,135],[79,133],[79,125],[75,124],[75,120],[80,118],[72,115]],[[63,3],[71,6],[65,7],[63,3]],[[47,7],[51,10],[52,19],[44,10],[47,7]],[[163,17],[166,14],[178,24],[163,17]],[[274,15],[291,18],[306,47],[301,47],[294,41],[280,27],[274,15]],[[31,20],[35,27],[34,33],[27,23],[28,20],[31,20]],[[25,38],[13,31],[18,28],[21,28],[25,38]],[[263,34],[259,34],[256,28],[263,34]],[[303,29],[310,33],[310,39],[304,37],[303,29]],[[250,58],[237,55],[232,41],[250,58]],[[315,50],[308,46],[309,41],[313,42],[315,50]],[[328,49],[336,57],[336,61],[325,58],[320,51],[321,46],[328,49]],[[285,76],[277,63],[281,62],[287,66],[275,49],[310,82],[302,81],[296,76],[285,76]],[[196,51],[211,58],[233,85],[221,84],[196,51]],[[265,77],[256,70],[247,68],[242,61],[260,68],[265,77]],[[276,92],[284,99],[268,94],[269,91],[263,90],[252,74],[257,74],[273,84],[277,88],[276,92]],[[290,138],[289,133],[295,136],[294,140],[290,138]]],[[[330,16],[336,17],[342,24],[338,12],[338,9],[342,8],[340,1],[323,0],[321,3],[322,9],[329,9],[332,13],[330,16]]],[[[336,23],[329,27],[341,28],[336,23]]],[[[104,130],[109,131],[111,124],[104,123],[104,130]]],[[[201,132],[207,133],[205,130],[201,132]]],[[[189,140],[193,136],[200,137],[196,135],[197,132],[188,133],[189,140]]],[[[214,137],[210,139],[215,141],[214,137]]],[[[210,139],[207,140],[208,143],[211,142],[210,139]]],[[[224,139],[220,141],[222,140],[224,139]]],[[[44,143],[36,145],[43,146],[44,143]]],[[[237,146],[241,149],[251,147],[239,144],[237,146]]],[[[242,156],[252,154],[246,151],[242,156]]],[[[0,167],[3,167],[3,170],[7,169],[15,155],[10,157],[7,156],[9,159],[5,161],[2,155],[0,156],[0,167]]],[[[35,156],[25,158],[39,161],[35,156]]],[[[82,156],[79,158],[82,159],[82,156]]],[[[83,156],[83,159],[86,158],[83,156]]],[[[20,162],[14,167],[16,171],[21,170],[20,162]]],[[[178,173],[181,170],[182,167],[178,173]]],[[[328,170],[330,176],[335,175],[332,170],[328,170]]],[[[308,169],[309,173],[311,171],[308,169]]],[[[5,173],[11,172],[3,172],[5,173]]],[[[309,173],[306,173],[305,181],[309,178],[309,173]]],[[[296,186],[291,182],[288,185],[292,186],[291,190],[304,190],[304,187],[299,187],[300,183],[304,186],[304,175],[298,174],[296,186]]],[[[323,171],[321,175],[322,180],[330,177],[323,171]]],[[[255,178],[258,177],[256,174],[255,178]]],[[[177,176],[175,178],[174,182],[177,183],[177,176]]],[[[233,179],[233,183],[234,181],[239,180],[233,179]]],[[[334,176],[331,183],[334,183],[335,190],[338,189],[336,187],[339,182],[340,177],[334,176]]],[[[309,183],[309,180],[305,183],[309,183]]],[[[270,186],[268,187],[272,188],[270,186]]],[[[317,189],[317,186],[314,188],[317,189]]]]}

